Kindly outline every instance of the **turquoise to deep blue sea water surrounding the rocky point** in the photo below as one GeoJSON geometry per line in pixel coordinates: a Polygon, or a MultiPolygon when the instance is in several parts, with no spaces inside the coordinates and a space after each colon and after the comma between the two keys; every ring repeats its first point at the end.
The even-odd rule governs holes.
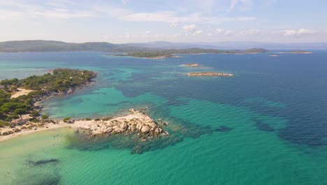
{"type": "Polygon", "coordinates": [[[170,123],[169,137],[152,142],[89,140],[70,129],[2,142],[0,184],[327,184],[327,53],[269,55],[0,53],[0,79],[56,67],[99,73],[93,85],[43,102],[52,118],[148,107],[170,123]],[[193,62],[202,67],[181,67],[193,62]]]}

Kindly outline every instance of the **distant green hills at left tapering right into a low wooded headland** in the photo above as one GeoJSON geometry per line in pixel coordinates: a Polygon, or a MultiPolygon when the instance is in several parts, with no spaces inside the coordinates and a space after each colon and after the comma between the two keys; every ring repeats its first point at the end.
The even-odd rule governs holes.
{"type": "Polygon", "coordinates": [[[182,49],[164,49],[164,48],[145,48],[129,44],[114,44],[107,42],[87,42],[87,43],[66,43],[61,41],[5,41],[0,42],[0,52],[81,52],[81,51],[99,51],[110,53],[112,56],[142,57],[148,59],[163,59],[167,57],[179,57],[178,54],[249,54],[249,53],[269,53],[269,50],[263,48],[252,48],[247,50],[217,50],[208,48],[182,48],[182,49]]]}

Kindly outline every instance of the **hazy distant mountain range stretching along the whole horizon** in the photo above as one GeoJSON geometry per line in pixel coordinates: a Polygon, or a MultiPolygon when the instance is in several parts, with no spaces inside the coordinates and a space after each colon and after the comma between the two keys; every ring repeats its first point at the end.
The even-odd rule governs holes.
{"type": "Polygon", "coordinates": [[[103,52],[143,52],[151,50],[202,48],[216,50],[245,50],[265,48],[268,50],[326,50],[327,43],[259,43],[259,42],[219,42],[219,43],[172,43],[155,41],[147,43],[114,44],[107,42],[66,43],[62,41],[5,41],[0,42],[0,52],[60,52],[60,51],[103,51],[103,52]]]}

